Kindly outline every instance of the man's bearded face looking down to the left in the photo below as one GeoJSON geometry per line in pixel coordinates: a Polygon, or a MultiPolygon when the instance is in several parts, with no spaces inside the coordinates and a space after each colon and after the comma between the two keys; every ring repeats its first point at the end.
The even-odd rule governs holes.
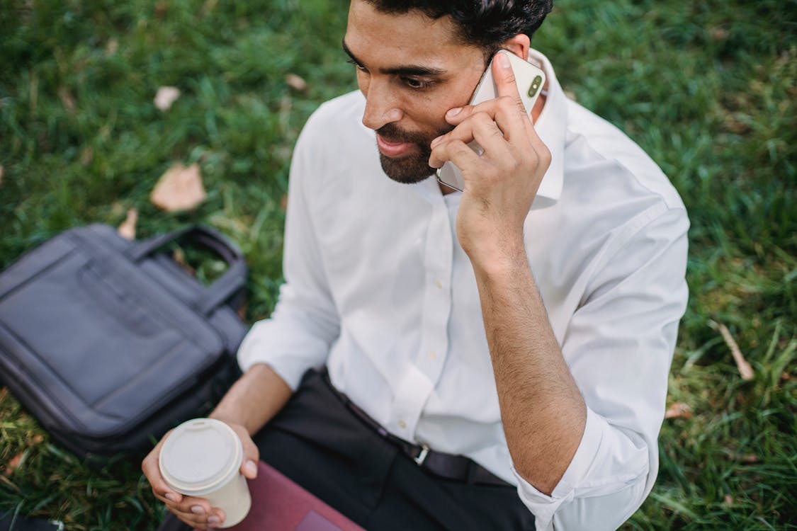
{"type": "Polygon", "coordinates": [[[351,0],[344,50],[367,100],[363,123],[376,131],[382,168],[394,181],[420,182],[434,173],[430,143],[451,130],[446,111],[468,103],[484,72],[481,49],[454,35],[449,17],[384,14],[351,0]]]}

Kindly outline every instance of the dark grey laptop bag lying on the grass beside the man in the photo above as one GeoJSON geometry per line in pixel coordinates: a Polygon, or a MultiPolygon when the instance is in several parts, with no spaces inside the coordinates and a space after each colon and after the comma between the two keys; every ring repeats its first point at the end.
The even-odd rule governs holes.
{"type": "Polygon", "coordinates": [[[0,273],[0,381],[80,456],[143,455],[239,376],[245,261],[218,232],[125,240],[73,228],[0,273]],[[229,264],[209,286],[164,252],[180,240],[229,264]]]}

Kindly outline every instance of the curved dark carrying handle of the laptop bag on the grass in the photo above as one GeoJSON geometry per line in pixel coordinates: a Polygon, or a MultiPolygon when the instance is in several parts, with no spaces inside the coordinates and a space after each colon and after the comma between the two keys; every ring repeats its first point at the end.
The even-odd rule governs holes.
{"type": "Polygon", "coordinates": [[[190,303],[202,314],[210,314],[245,286],[246,261],[241,250],[221,233],[203,225],[188,225],[137,242],[128,252],[128,257],[135,262],[140,262],[162,248],[163,245],[175,240],[189,240],[191,243],[200,244],[216,252],[227,263],[227,271],[224,271],[222,276],[218,277],[210,286],[202,287],[198,297],[190,303]]]}

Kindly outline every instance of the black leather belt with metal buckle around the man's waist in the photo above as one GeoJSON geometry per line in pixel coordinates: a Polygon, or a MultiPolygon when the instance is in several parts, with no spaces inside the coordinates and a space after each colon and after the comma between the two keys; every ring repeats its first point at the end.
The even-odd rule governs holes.
{"type": "Polygon", "coordinates": [[[464,455],[444,454],[439,451],[431,450],[425,444],[410,443],[387,431],[381,424],[371,419],[366,412],[357,407],[357,404],[349,400],[343,392],[338,391],[329,380],[328,373],[324,370],[324,382],[329,386],[335,395],[355,414],[359,420],[383,439],[394,444],[404,455],[412,459],[418,467],[430,472],[440,478],[453,479],[454,481],[467,482],[474,485],[494,485],[511,486],[508,482],[499,478],[485,467],[469,459],[464,455]]]}

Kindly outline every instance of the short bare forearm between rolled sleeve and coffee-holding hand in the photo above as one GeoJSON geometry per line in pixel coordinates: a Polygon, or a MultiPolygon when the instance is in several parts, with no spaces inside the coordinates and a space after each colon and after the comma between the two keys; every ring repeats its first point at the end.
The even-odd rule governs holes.
{"type": "Polygon", "coordinates": [[[241,424],[249,435],[254,435],[291,395],[289,385],[269,365],[253,365],[230,388],[210,418],[241,424]]]}

